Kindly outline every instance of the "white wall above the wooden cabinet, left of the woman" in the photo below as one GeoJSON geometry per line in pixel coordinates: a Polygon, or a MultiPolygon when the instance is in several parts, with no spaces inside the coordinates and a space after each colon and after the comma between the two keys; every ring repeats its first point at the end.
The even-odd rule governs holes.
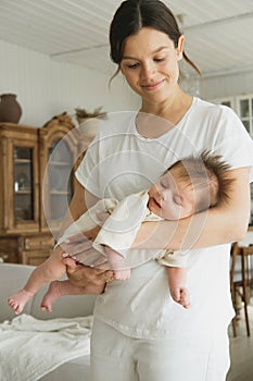
{"type": "Polygon", "coordinates": [[[0,40],[0,94],[13,93],[22,107],[21,124],[43,125],[52,116],[76,107],[93,111],[138,109],[137,96],[121,75],[109,89],[110,77],[96,71],[64,63],[23,47],[0,40]]]}

